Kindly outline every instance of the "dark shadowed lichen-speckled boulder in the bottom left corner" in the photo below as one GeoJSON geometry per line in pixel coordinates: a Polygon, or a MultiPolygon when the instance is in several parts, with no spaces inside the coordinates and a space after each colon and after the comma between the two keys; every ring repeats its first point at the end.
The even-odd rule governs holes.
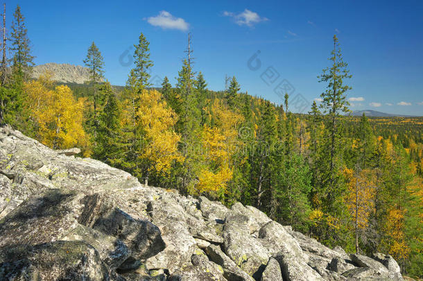
{"type": "Polygon", "coordinates": [[[0,280],[110,280],[98,252],[84,241],[54,241],[0,250],[0,280]]]}

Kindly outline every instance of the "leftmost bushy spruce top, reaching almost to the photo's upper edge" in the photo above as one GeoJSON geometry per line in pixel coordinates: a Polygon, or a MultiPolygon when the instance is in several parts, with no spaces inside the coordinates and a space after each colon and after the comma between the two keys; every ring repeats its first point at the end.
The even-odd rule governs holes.
{"type": "MultiPolygon", "coordinates": [[[[16,7],[13,14],[12,33],[10,33],[10,40],[12,46],[12,69],[17,73],[28,74],[31,67],[34,66],[34,57],[31,56],[31,41],[28,38],[28,30],[25,27],[25,17],[21,14],[21,7],[16,7]]],[[[24,77],[27,78],[27,77],[24,77]]]]}

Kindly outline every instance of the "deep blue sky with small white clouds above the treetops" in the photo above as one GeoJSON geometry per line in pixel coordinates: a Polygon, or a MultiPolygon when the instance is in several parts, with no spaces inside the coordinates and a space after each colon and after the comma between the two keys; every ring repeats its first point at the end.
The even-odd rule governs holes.
{"type": "MultiPolygon", "coordinates": [[[[275,103],[275,87],[311,104],[325,85],[336,34],[353,78],[352,110],[423,115],[423,1],[8,1],[7,22],[19,3],[37,65],[83,65],[89,44],[105,60],[105,76],[124,85],[128,53],[139,33],[150,42],[155,79],[175,76],[193,37],[194,69],[209,89],[222,90],[225,74],[241,91],[275,103]],[[257,67],[257,59],[261,62],[257,67]],[[258,68],[258,69],[257,69],[258,68]]],[[[303,108],[293,111],[301,111],[303,108]]],[[[305,109],[305,111],[308,110],[305,109]]]]}

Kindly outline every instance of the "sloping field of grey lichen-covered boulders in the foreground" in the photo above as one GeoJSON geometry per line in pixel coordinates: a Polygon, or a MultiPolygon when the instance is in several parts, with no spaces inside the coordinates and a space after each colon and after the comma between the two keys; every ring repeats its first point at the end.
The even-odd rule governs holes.
{"type": "Polygon", "coordinates": [[[0,280],[402,280],[254,207],[144,187],[0,128],[0,280]]]}

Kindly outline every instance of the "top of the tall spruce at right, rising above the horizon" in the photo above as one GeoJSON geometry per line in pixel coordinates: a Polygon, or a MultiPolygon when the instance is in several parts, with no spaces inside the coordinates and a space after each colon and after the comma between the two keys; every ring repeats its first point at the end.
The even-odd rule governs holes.
{"type": "Polygon", "coordinates": [[[334,49],[331,51],[332,65],[323,69],[322,75],[318,76],[319,82],[327,83],[327,90],[320,94],[323,101],[320,105],[325,113],[330,116],[338,116],[340,112],[348,112],[348,101],[345,99],[345,92],[352,88],[344,85],[343,79],[351,78],[347,69],[348,64],[344,62],[338,37],[334,35],[334,49]]]}

